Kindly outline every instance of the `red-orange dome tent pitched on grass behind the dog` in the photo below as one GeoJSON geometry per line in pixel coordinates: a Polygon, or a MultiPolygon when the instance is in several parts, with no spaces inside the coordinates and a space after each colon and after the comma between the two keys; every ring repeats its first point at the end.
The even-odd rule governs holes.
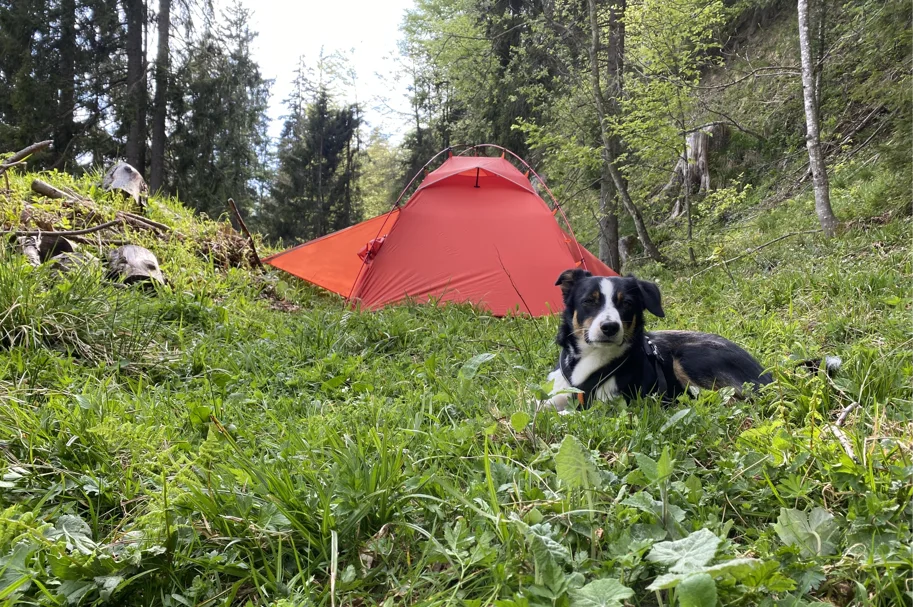
{"type": "Polygon", "coordinates": [[[615,275],[558,210],[503,155],[451,154],[406,204],[264,261],[371,310],[432,299],[542,316],[563,309],[562,271],[615,275]]]}

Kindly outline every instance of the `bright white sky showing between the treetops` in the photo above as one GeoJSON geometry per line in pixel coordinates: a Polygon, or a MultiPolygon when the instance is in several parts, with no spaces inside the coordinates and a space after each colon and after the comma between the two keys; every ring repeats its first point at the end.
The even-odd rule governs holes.
{"type": "MultiPolygon", "coordinates": [[[[395,83],[399,26],[413,0],[242,0],[253,12],[250,27],[258,32],[254,56],[271,88],[270,135],[278,138],[285,114],[283,100],[291,92],[298,59],[316,65],[324,54],[346,53],[356,73],[356,92],[369,128],[378,128],[394,143],[402,139],[408,111],[406,89],[395,83]],[[377,74],[385,74],[381,78],[377,74]]],[[[224,7],[227,0],[218,6],[224,7]]],[[[339,101],[354,101],[340,99],[339,101]]]]}

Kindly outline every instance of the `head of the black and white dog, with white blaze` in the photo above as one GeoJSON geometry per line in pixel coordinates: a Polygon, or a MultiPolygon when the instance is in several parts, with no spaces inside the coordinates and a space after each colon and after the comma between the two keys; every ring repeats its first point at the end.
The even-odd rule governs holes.
{"type": "Polygon", "coordinates": [[[659,287],[634,276],[565,270],[555,285],[561,287],[565,308],[558,343],[577,351],[581,344],[619,347],[632,343],[643,333],[644,310],[665,316],[659,287]]]}

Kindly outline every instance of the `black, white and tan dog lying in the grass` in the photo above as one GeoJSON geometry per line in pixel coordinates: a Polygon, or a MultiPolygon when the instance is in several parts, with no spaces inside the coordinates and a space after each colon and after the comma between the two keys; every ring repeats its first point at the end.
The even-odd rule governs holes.
{"type": "Polygon", "coordinates": [[[558,329],[561,356],[549,374],[553,392],[577,388],[580,393],[555,394],[548,404],[558,411],[577,400],[660,394],[669,402],[691,386],[729,386],[741,395],[745,384],[772,381],[748,352],[718,335],[695,331],[644,330],[644,310],[665,316],[659,288],[633,276],[593,276],[566,270],[555,285],[564,296],[558,329]]]}

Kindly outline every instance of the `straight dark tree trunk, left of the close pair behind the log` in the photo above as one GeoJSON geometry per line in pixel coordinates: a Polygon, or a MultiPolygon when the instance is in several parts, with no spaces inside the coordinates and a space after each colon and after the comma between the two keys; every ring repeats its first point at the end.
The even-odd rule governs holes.
{"type": "Polygon", "coordinates": [[[146,58],[143,54],[143,0],[124,0],[127,17],[127,163],[146,170],[146,58]]]}

